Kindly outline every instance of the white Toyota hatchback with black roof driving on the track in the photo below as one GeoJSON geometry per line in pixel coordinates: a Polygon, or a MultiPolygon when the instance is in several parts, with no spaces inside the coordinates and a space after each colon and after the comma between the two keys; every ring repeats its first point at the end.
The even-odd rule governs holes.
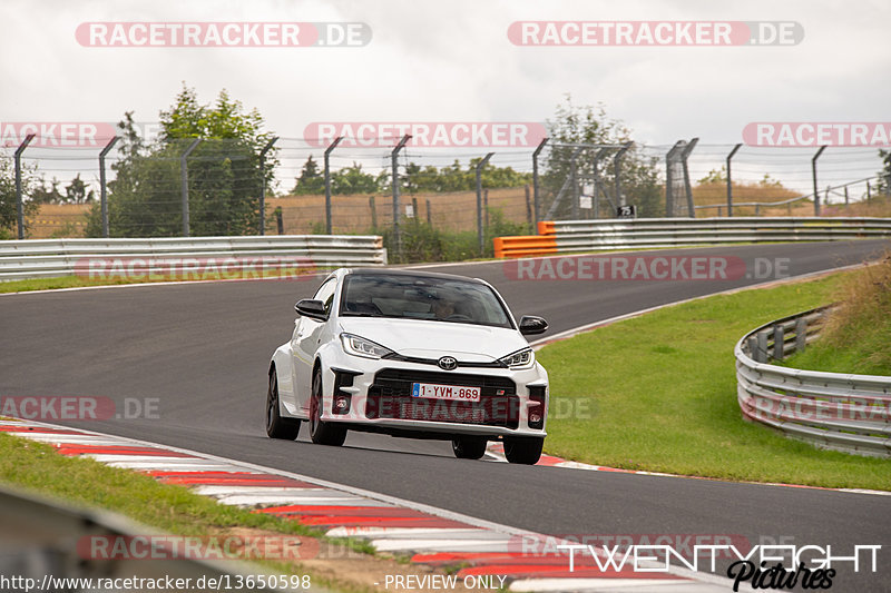
{"type": "Polygon", "coordinates": [[[452,442],[478,459],[501,439],[511,463],[541,455],[548,374],[517,324],[480,279],[390,269],[332,273],[295,307],[291,342],[270,364],[266,434],[342,445],[347,431],[452,442]]]}

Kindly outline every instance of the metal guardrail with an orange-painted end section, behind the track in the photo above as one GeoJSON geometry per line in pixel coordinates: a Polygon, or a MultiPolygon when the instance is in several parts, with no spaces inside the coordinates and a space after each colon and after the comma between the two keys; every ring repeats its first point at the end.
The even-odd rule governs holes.
{"type": "Polygon", "coordinates": [[[734,243],[891,237],[891,218],[638,218],[542,221],[538,235],[498,237],[497,257],[734,243]]]}

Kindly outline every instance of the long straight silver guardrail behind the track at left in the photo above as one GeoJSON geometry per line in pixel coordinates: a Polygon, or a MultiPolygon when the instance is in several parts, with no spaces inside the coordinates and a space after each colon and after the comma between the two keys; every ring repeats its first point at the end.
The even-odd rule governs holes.
{"type": "Polygon", "coordinates": [[[383,239],[373,235],[282,235],[150,239],[0,241],[0,280],[76,273],[88,258],[303,258],[317,268],[382,266],[383,239]]]}

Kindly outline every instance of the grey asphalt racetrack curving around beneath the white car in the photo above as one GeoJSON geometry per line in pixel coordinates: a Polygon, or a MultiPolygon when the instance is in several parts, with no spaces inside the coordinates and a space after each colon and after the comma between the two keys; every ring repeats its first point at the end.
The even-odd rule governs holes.
{"type": "MultiPolygon", "coordinates": [[[[773,279],[754,277],[764,275],[768,264],[780,263],[781,273],[797,276],[875,258],[887,247],[887,241],[861,240],[648,254],[741,258],[746,271],[735,279],[520,279],[516,264],[506,268],[502,261],[424,268],[492,283],[518,318],[535,314],[548,319],[547,338],[600,319],[773,279]]],[[[752,543],[831,544],[841,555],[850,555],[854,545],[881,544],[885,547],[877,574],[862,567],[859,574],[841,570],[833,590],[891,590],[889,496],[468,462],[456,459],[444,442],[361,433],[351,433],[342,448],[325,447],[307,442],[305,426],[297,442],[267,438],[263,413],[268,359],[291,336],[294,303],[312,296],[317,285],[314,278],[0,295],[0,395],[106,396],[120,404],[118,409],[125,398],[157,398],[157,418],[67,424],[306,474],[540,533],[734,534],[752,543]]]]}

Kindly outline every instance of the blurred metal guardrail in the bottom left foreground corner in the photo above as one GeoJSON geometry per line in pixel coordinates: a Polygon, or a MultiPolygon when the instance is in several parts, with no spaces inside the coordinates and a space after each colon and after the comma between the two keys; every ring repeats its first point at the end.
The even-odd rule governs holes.
{"type": "MultiPolygon", "coordinates": [[[[115,560],[84,554],[85,548],[89,550],[90,538],[126,541],[128,537],[154,535],[161,536],[112,513],[69,507],[32,493],[0,487],[0,575],[8,581],[13,576],[18,579],[18,583],[11,581],[11,586],[7,584],[4,591],[37,591],[41,584],[47,585],[45,591],[80,591],[79,586],[65,586],[58,581],[52,585],[50,577],[91,579],[94,583],[100,579],[104,582],[140,580],[138,582],[143,583],[163,583],[170,579],[185,583],[188,579],[190,585],[180,587],[184,591],[207,590],[195,586],[200,580],[205,583],[208,580],[226,583],[224,590],[252,593],[298,590],[256,586],[257,575],[263,575],[268,582],[274,573],[255,564],[235,561],[169,557],[176,555],[164,553],[145,556],[134,554],[115,560]],[[247,577],[253,581],[247,581],[247,577]],[[32,585],[26,586],[25,580],[31,580],[32,585]]],[[[144,591],[146,587],[166,590],[165,586],[134,585],[134,591],[144,591]]],[[[209,589],[216,590],[215,586],[209,589]]],[[[313,586],[310,591],[324,590],[313,586]]]]}

